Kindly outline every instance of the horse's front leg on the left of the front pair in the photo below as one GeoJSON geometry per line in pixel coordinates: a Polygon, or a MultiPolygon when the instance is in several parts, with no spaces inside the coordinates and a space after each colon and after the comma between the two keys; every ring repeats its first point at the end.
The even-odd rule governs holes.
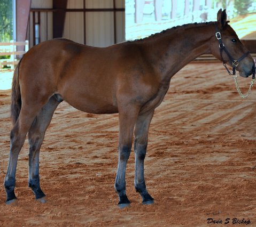
{"type": "Polygon", "coordinates": [[[119,158],[117,177],[115,178],[115,190],[119,196],[118,206],[120,208],[127,207],[130,204],[126,196],[125,174],[138,111],[139,109],[136,107],[126,107],[124,110],[119,110],[119,158]]]}

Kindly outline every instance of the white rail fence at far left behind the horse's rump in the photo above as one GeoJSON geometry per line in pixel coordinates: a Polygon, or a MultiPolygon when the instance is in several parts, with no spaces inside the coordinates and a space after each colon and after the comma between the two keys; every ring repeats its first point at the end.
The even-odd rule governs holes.
{"type": "Polygon", "coordinates": [[[25,42],[15,42],[11,40],[10,42],[0,43],[0,56],[10,56],[9,59],[0,60],[0,71],[3,70],[4,66],[14,69],[15,65],[19,62],[17,56],[25,54],[28,51],[28,46],[28,40],[25,42]],[[24,46],[25,48],[22,48],[24,51],[17,51],[17,46],[24,46]]]}

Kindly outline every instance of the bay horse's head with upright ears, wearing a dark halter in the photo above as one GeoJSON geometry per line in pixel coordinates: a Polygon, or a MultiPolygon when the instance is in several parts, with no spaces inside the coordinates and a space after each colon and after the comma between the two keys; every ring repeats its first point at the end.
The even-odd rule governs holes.
{"type": "Polygon", "coordinates": [[[219,60],[239,71],[242,77],[249,77],[255,70],[255,63],[248,50],[241,43],[235,31],[228,25],[226,10],[219,10],[215,22],[215,35],[211,52],[219,60]]]}

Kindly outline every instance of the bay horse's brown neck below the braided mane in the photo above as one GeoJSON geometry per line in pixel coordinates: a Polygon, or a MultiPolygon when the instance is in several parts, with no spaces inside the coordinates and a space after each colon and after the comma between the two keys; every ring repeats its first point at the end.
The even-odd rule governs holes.
{"type": "Polygon", "coordinates": [[[148,40],[154,69],[168,82],[177,71],[202,54],[210,53],[213,25],[195,25],[166,31],[148,40]]]}

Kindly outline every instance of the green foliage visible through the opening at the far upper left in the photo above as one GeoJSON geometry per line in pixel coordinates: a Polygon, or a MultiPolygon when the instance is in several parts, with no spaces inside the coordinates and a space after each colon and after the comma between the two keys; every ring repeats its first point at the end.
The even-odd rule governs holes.
{"type": "Polygon", "coordinates": [[[12,39],[12,0],[0,0],[0,42],[12,39]]]}

